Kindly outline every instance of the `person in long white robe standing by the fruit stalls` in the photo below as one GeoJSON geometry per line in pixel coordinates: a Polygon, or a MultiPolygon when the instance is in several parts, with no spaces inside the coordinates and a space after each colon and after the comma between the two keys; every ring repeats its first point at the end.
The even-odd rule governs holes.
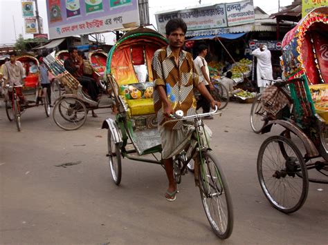
{"type": "Polygon", "coordinates": [[[269,81],[264,79],[273,79],[272,75],[272,64],[271,64],[271,52],[264,44],[260,44],[259,48],[252,52],[252,55],[257,57],[256,66],[256,77],[257,86],[259,87],[259,92],[263,92],[264,88],[267,86],[269,81]]]}

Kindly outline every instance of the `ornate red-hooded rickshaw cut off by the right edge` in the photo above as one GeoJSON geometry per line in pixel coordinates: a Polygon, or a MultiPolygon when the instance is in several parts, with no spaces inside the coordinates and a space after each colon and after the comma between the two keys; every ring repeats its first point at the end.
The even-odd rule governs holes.
{"type": "Polygon", "coordinates": [[[273,125],[282,126],[284,131],[268,137],[259,148],[257,175],[268,202],[283,213],[302,207],[309,182],[328,184],[327,33],[327,7],[312,10],[289,31],[282,41],[286,80],[269,87],[275,88],[272,99],[261,99],[266,112],[262,117],[276,118],[267,119],[260,133],[269,132],[273,125]],[[278,117],[282,108],[276,108],[277,97],[281,98],[281,88],[286,85],[289,91],[284,96],[291,101],[289,115],[278,117]],[[310,169],[318,173],[309,175],[310,169]],[[319,173],[324,177],[319,178],[319,173]]]}

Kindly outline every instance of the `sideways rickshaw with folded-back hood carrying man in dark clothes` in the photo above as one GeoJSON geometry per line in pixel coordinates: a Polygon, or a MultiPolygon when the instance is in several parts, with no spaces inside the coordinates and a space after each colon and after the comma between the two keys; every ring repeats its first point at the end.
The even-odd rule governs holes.
{"type": "Polygon", "coordinates": [[[55,58],[55,52],[46,56],[44,63],[65,90],[56,99],[53,108],[53,120],[57,126],[64,130],[76,130],[85,123],[89,110],[111,108],[110,101],[93,101],[79,81],[64,68],[59,59],[55,58]]]}

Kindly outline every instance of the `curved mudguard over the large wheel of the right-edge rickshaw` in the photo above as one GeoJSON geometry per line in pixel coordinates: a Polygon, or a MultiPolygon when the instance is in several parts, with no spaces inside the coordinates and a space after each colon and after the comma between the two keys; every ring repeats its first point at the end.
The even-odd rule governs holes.
{"type": "Polygon", "coordinates": [[[262,133],[267,133],[271,131],[271,127],[274,124],[279,124],[280,126],[286,128],[287,130],[290,130],[292,133],[294,133],[297,137],[300,138],[302,143],[304,144],[305,150],[307,150],[307,157],[318,157],[319,152],[316,148],[316,146],[313,144],[311,139],[307,137],[307,135],[304,134],[302,129],[300,129],[298,126],[295,126],[295,124],[292,124],[290,121],[284,121],[284,120],[273,120],[269,121],[264,128],[262,128],[262,133]]]}

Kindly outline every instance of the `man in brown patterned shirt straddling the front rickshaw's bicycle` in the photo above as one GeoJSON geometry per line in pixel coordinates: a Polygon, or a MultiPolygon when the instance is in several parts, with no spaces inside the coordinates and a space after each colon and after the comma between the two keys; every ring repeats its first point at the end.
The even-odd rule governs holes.
{"type": "Polygon", "coordinates": [[[210,101],[212,108],[219,107],[220,103],[212,98],[206,86],[199,81],[192,55],[182,50],[187,32],[183,19],[171,19],[165,26],[165,32],[169,45],[157,50],[152,60],[154,108],[161,133],[163,164],[169,181],[165,198],[174,201],[177,186],[174,182],[172,157],[188,147],[194,123],[175,121],[162,125],[176,110],[183,110],[184,115],[197,114],[193,88],[197,88],[210,101]]]}

